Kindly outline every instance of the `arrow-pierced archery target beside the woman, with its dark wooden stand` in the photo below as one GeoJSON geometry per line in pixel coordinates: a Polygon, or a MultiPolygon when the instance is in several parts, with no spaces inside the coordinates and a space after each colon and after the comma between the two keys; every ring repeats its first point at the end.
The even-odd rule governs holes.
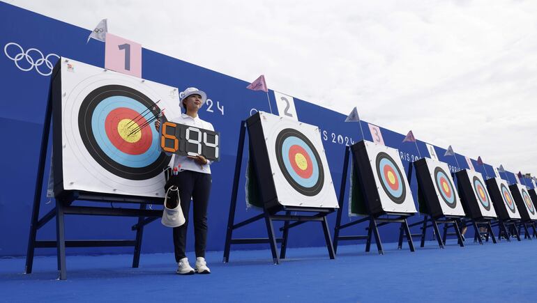
{"type": "Polygon", "coordinates": [[[62,280],[67,277],[66,247],[134,247],[132,266],[138,267],[144,226],[162,217],[162,210],[147,205],[163,204],[162,171],[171,160],[161,153],[158,132],[143,114],[156,114],[157,100],[162,100],[162,106],[176,104],[176,99],[176,89],[169,86],[66,58],[56,63],[41,137],[25,273],[32,272],[36,248],[54,247],[62,280]],[[142,128],[144,123],[147,127],[142,128]],[[49,181],[54,184],[56,205],[40,217],[51,124],[54,157],[49,181]],[[125,125],[139,132],[130,136],[125,125]],[[112,203],[122,205],[114,208],[112,203]],[[131,227],[135,239],[66,240],[66,215],[138,218],[131,227]],[[54,218],[56,239],[37,240],[38,230],[54,218]]]}

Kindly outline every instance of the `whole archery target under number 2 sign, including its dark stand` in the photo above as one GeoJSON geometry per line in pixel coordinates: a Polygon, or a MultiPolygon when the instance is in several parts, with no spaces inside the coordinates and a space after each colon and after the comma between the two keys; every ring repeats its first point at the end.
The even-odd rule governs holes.
{"type": "Polygon", "coordinates": [[[338,203],[318,128],[259,112],[241,121],[236,155],[223,262],[229,262],[232,244],[269,243],[273,263],[279,264],[285,258],[289,229],[305,222],[321,223],[328,256],[335,258],[326,216],[334,212],[338,203]],[[257,197],[250,199],[257,198],[262,213],[235,223],[247,128],[253,171],[249,182],[258,190],[257,197]],[[262,219],[267,238],[233,238],[237,228],[262,219]],[[280,228],[281,238],[276,238],[274,232],[274,222],[278,221],[285,222],[280,228]],[[278,242],[281,243],[279,255],[278,242]]]}

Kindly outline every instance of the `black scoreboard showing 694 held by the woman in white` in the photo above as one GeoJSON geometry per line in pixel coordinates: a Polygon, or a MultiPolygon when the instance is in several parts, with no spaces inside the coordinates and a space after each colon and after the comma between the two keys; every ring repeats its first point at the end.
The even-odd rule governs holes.
{"type": "Polygon", "coordinates": [[[220,161],[220,133],[212,130],[167,121],[162,124],[160,147],[167,153],[220,161]]]}

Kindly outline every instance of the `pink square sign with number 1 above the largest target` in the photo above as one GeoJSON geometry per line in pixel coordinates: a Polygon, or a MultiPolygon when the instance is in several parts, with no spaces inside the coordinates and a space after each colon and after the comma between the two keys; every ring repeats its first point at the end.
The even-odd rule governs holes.
{"type": "Polygon", "coordinates": [[[142,45],[106,33],[105,68],[142,77],[142,45]]]}

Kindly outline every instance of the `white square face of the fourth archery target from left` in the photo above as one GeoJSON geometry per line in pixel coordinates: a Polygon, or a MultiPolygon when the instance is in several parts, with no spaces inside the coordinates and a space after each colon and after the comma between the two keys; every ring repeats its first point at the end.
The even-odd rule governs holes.
{"type": "Polygon", "coordinates": [[[442,213],[464,217],[464,208],[459,201],[459,195],[449,173],[448,164],[430,158],[425,158],[425,163],[430,171],[430,178],[437,193],[442,213]]]}

